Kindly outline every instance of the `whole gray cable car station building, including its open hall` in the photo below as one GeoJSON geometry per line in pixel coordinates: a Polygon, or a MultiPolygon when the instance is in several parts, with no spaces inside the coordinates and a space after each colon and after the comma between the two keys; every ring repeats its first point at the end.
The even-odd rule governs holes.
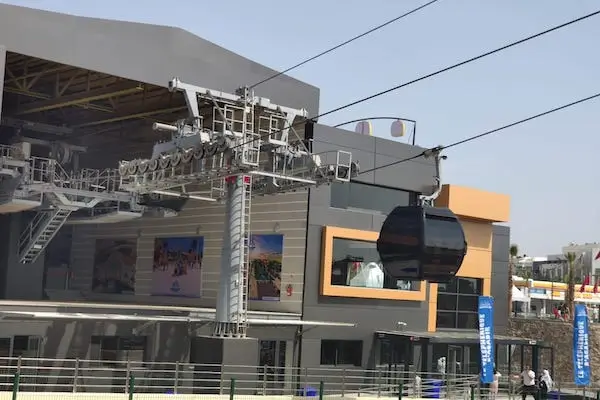
{"type": "MultiPolygon", "coordinates": [[[[507,196],[443,186],[435,204],[460,218],[468,245],[449,283],[397,280],[378,264],[386,215],[436,191],[433,159],[253,195],[246,339],[214,336],[228,223],[208,201],[214,187],[155,188],[140,210],[106,189],[110,176],[67,188],[58,175],[11,172],[15,146],[40,176],[50,164],[98,171],[149,158],[172,134],[153,124],[189,112],[185,93],[167,88],[174,76],[236,93],[274,73],[176,28],[0,5],[0,356],[432,372],[447,357],[477,373],[479,295],[495,298],[498,346],[519,344],[502,336],[509,228],[496,223],[509,220],[507,196]],[[45,197],[19,197],[24,186],[45,197]]],[[[318,114],[319,89],[291,77],[256,92],[318,114]]],[[[296,131],[312,154],[346,152],[363,171],[424,150],[318,123],[296,131]]]]}

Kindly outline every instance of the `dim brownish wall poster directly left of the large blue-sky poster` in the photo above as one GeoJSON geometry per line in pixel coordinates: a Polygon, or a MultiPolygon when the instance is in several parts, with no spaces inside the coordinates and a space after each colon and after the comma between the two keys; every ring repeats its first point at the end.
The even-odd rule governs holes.
{"type": "Polygon", "coordinates": [[[96,293],[133,294],[137,240],[98,239],[94,252],[92,291],[96,293]]]}

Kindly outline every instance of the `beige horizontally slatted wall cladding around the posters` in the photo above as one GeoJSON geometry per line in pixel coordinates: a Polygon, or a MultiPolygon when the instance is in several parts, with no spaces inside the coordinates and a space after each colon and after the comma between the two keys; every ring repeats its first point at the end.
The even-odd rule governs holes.
{"type": "MultiPolygon", "coordinates": [[[[297,192],[252,199],[251,233],[282,234],[284,254],[281,300],[250,301],[250,309],[295,313],[302,311],[307,197],[307,192],[297,192]],[[285,288],[288,284],[293,287],[291,296],[286,295],[285,288]]],[[[77,226],[73,235],[72,266],[75,277],[72,289],[91,289],[97,239],[137,237],[137,302],[214,307],[219,285],[224,217],[225,209],[222,205],[190,201],[180,215],[174,218],[147,218],[121,224],[77,226]],[[157,237],[177,236],[204,237],[200,298],[150,296],[154,241],[157,237]]],[[[127,297],[98,294],[93,296],[104,296],[106,300],[111,301],[118,298],[126,301],[123,299],[127,297]]]]}

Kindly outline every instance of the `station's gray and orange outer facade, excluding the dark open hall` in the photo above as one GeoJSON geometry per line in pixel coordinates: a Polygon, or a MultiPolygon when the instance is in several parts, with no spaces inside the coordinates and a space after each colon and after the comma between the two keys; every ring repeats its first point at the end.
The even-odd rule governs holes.
{"type": "MultiPolygon", "coordinates": [[[[232,80],[253,82],[273,72],[171,28],[5,5],[0,5],[0,19],[7,21],[0,23],[0,59],[7,52],[36,55],[154,85],[179,74],[191,83],[226,91],[233,91],[232,80]],[[44,34],[14,34],[23,28],[11,21],[25,17],[43,20],[44,34]],[[60,38],[70,32],[65,26],[77,26],[82,42],[97,40],[97,32],[102,32],[101,51],[91,47],[90,52],[87,46],[61,50],[60,38]],[[174,58],[168,64],[144,61],[150,57],[144,43],[154,54],[157,41],[169,40],[178,46],[171,49],[174,58]],[[203,52],[214,56],[203,61],[206,68],[194,65],[197,59],[190,56],[203,52]],[[118,58],[115,54],[123,55],[119,66],[124,70],[109,60],[118,58]],[[140,63],[145,63],[143,68],[140,63]],[[228,70],[221,71],[221,65],[228,70]]],[[[37,29],[40,24],[30,26],[37,29]]],[[[5,88],[11,85],[9,75],[5,88]]],[[[261,95],[272,95],[279,104],[318,109],[318,89],[286,76],[269,82],[261,95]]],[[[11,108],[4,104],[2,109],[6,113],[11,108]]],[[[314,153],[347,150],[362,170],[424,150],[319,124],[311,131],[314,153]]],[[[144,151],[142,147],[135,151],[144,151]]],[[[92,152],[82,162],[97,165],[102,158],[92,152]]],[[[0,352],[14,357],[272,365],[282,370],[383,365],[430,372],[446,357],[454,360],[452,368],[460,365],[462,372],[476,372],[478,296],[496,299],[498,343],[508,343],[501,335],[510,232],[496,225],[509,220],[507,196],[444,186],[436,205],[460,217],[468,244],[454,281],[391,282],[384,276],[380,287],[368,283],[366,270],[379,268],[375,241],[387,213],[431,194],[434,177],[433,161],[417,159],[361,174],[350,183],[254,198],[248,331],[252,339],[224,340],[217,350],[208,337],[219,291],[222,205],[190,201],[171,218],[117,224],[71,221],[44,254],[27,265],[16,259],[26,214],[0,215],[5,239],[0,248],[5,316],[0,321],[0,352]]]]}

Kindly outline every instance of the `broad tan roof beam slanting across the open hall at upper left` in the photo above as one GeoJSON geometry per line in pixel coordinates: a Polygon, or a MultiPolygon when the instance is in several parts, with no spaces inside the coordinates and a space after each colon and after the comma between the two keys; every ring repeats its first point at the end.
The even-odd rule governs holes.
{"type": "Polygon", "coordinates": [[[75,93],[67,96],[61,96],[48,100],[38,101],[23,108],[17,112],[18,115],[34,114],[42,111],[54,110],[57,108],[79,106],[92,101],[104,100],[110,97],[124,96],[144,90],[142,84],[127,82],[124,84],[111,85],[102,89],[95,89],[81,93],[75,93]]]}

